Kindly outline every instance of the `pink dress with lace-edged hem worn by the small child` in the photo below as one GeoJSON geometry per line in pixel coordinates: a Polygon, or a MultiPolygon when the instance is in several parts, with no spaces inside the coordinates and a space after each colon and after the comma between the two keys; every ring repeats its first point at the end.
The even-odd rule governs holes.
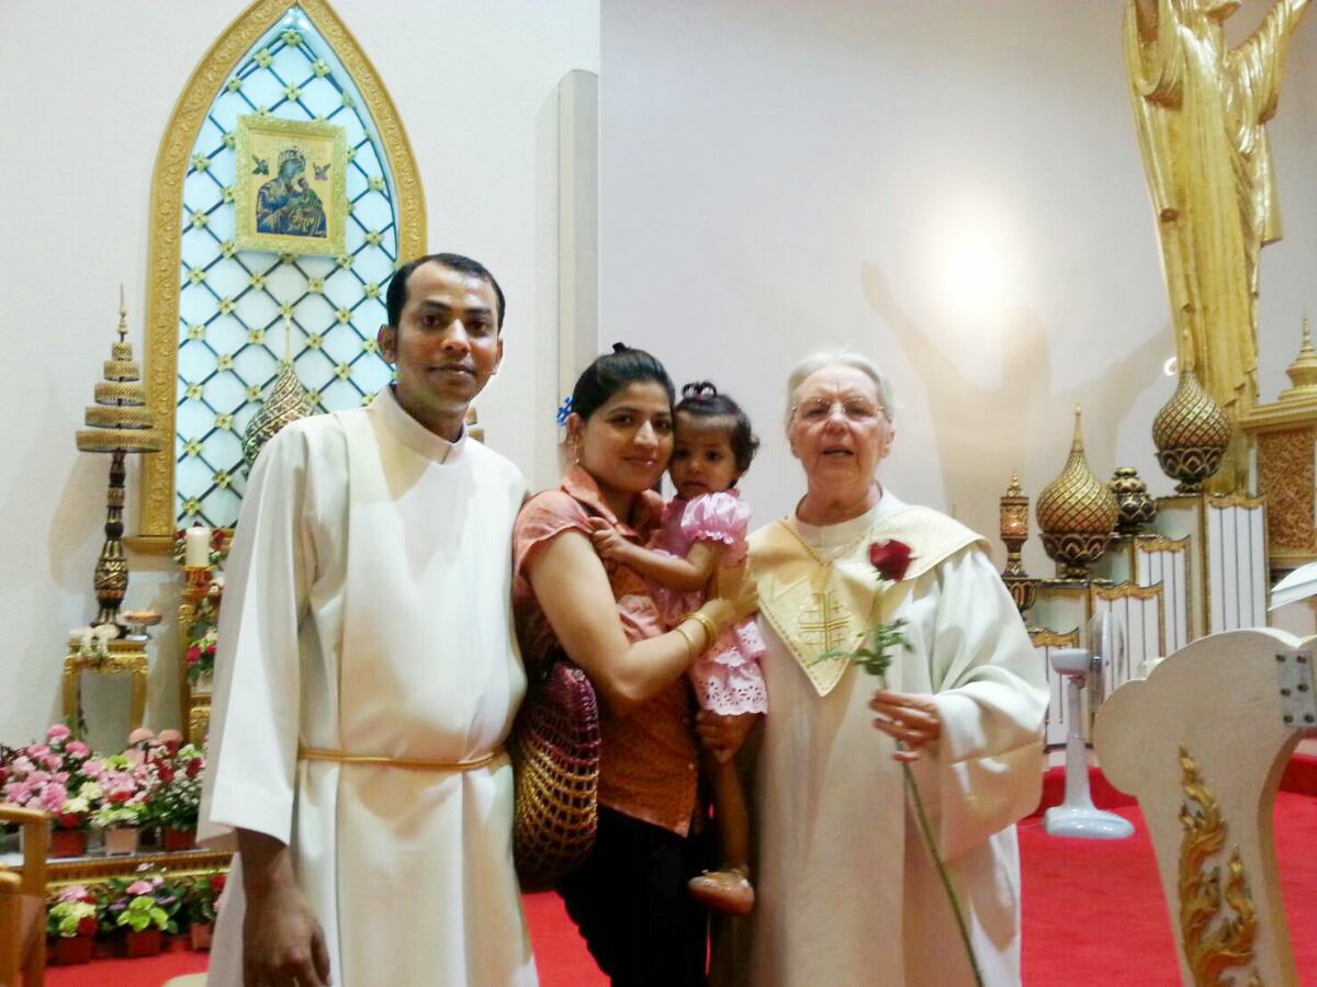
{"type": "MultiPolygon", "coordinates": [[[[716,541],[727,546],[722,565],[745,561],[745,529],[749,507],[736,491],[703,494],[694,500],[673,497],[664,505],[662,524],[655,536],[657,551],[685,558],[697,541],[716,541]]],[[[653,600],[668,626],[676,626],[705,601],[702,592],[678,592],[656,586],[653,600]]],[[[759,667],[764,640],[753,620],[730,626],[690,669],[695,697],[703,709],[715,713],[766,713],[768,690],[759,667]]]]}

